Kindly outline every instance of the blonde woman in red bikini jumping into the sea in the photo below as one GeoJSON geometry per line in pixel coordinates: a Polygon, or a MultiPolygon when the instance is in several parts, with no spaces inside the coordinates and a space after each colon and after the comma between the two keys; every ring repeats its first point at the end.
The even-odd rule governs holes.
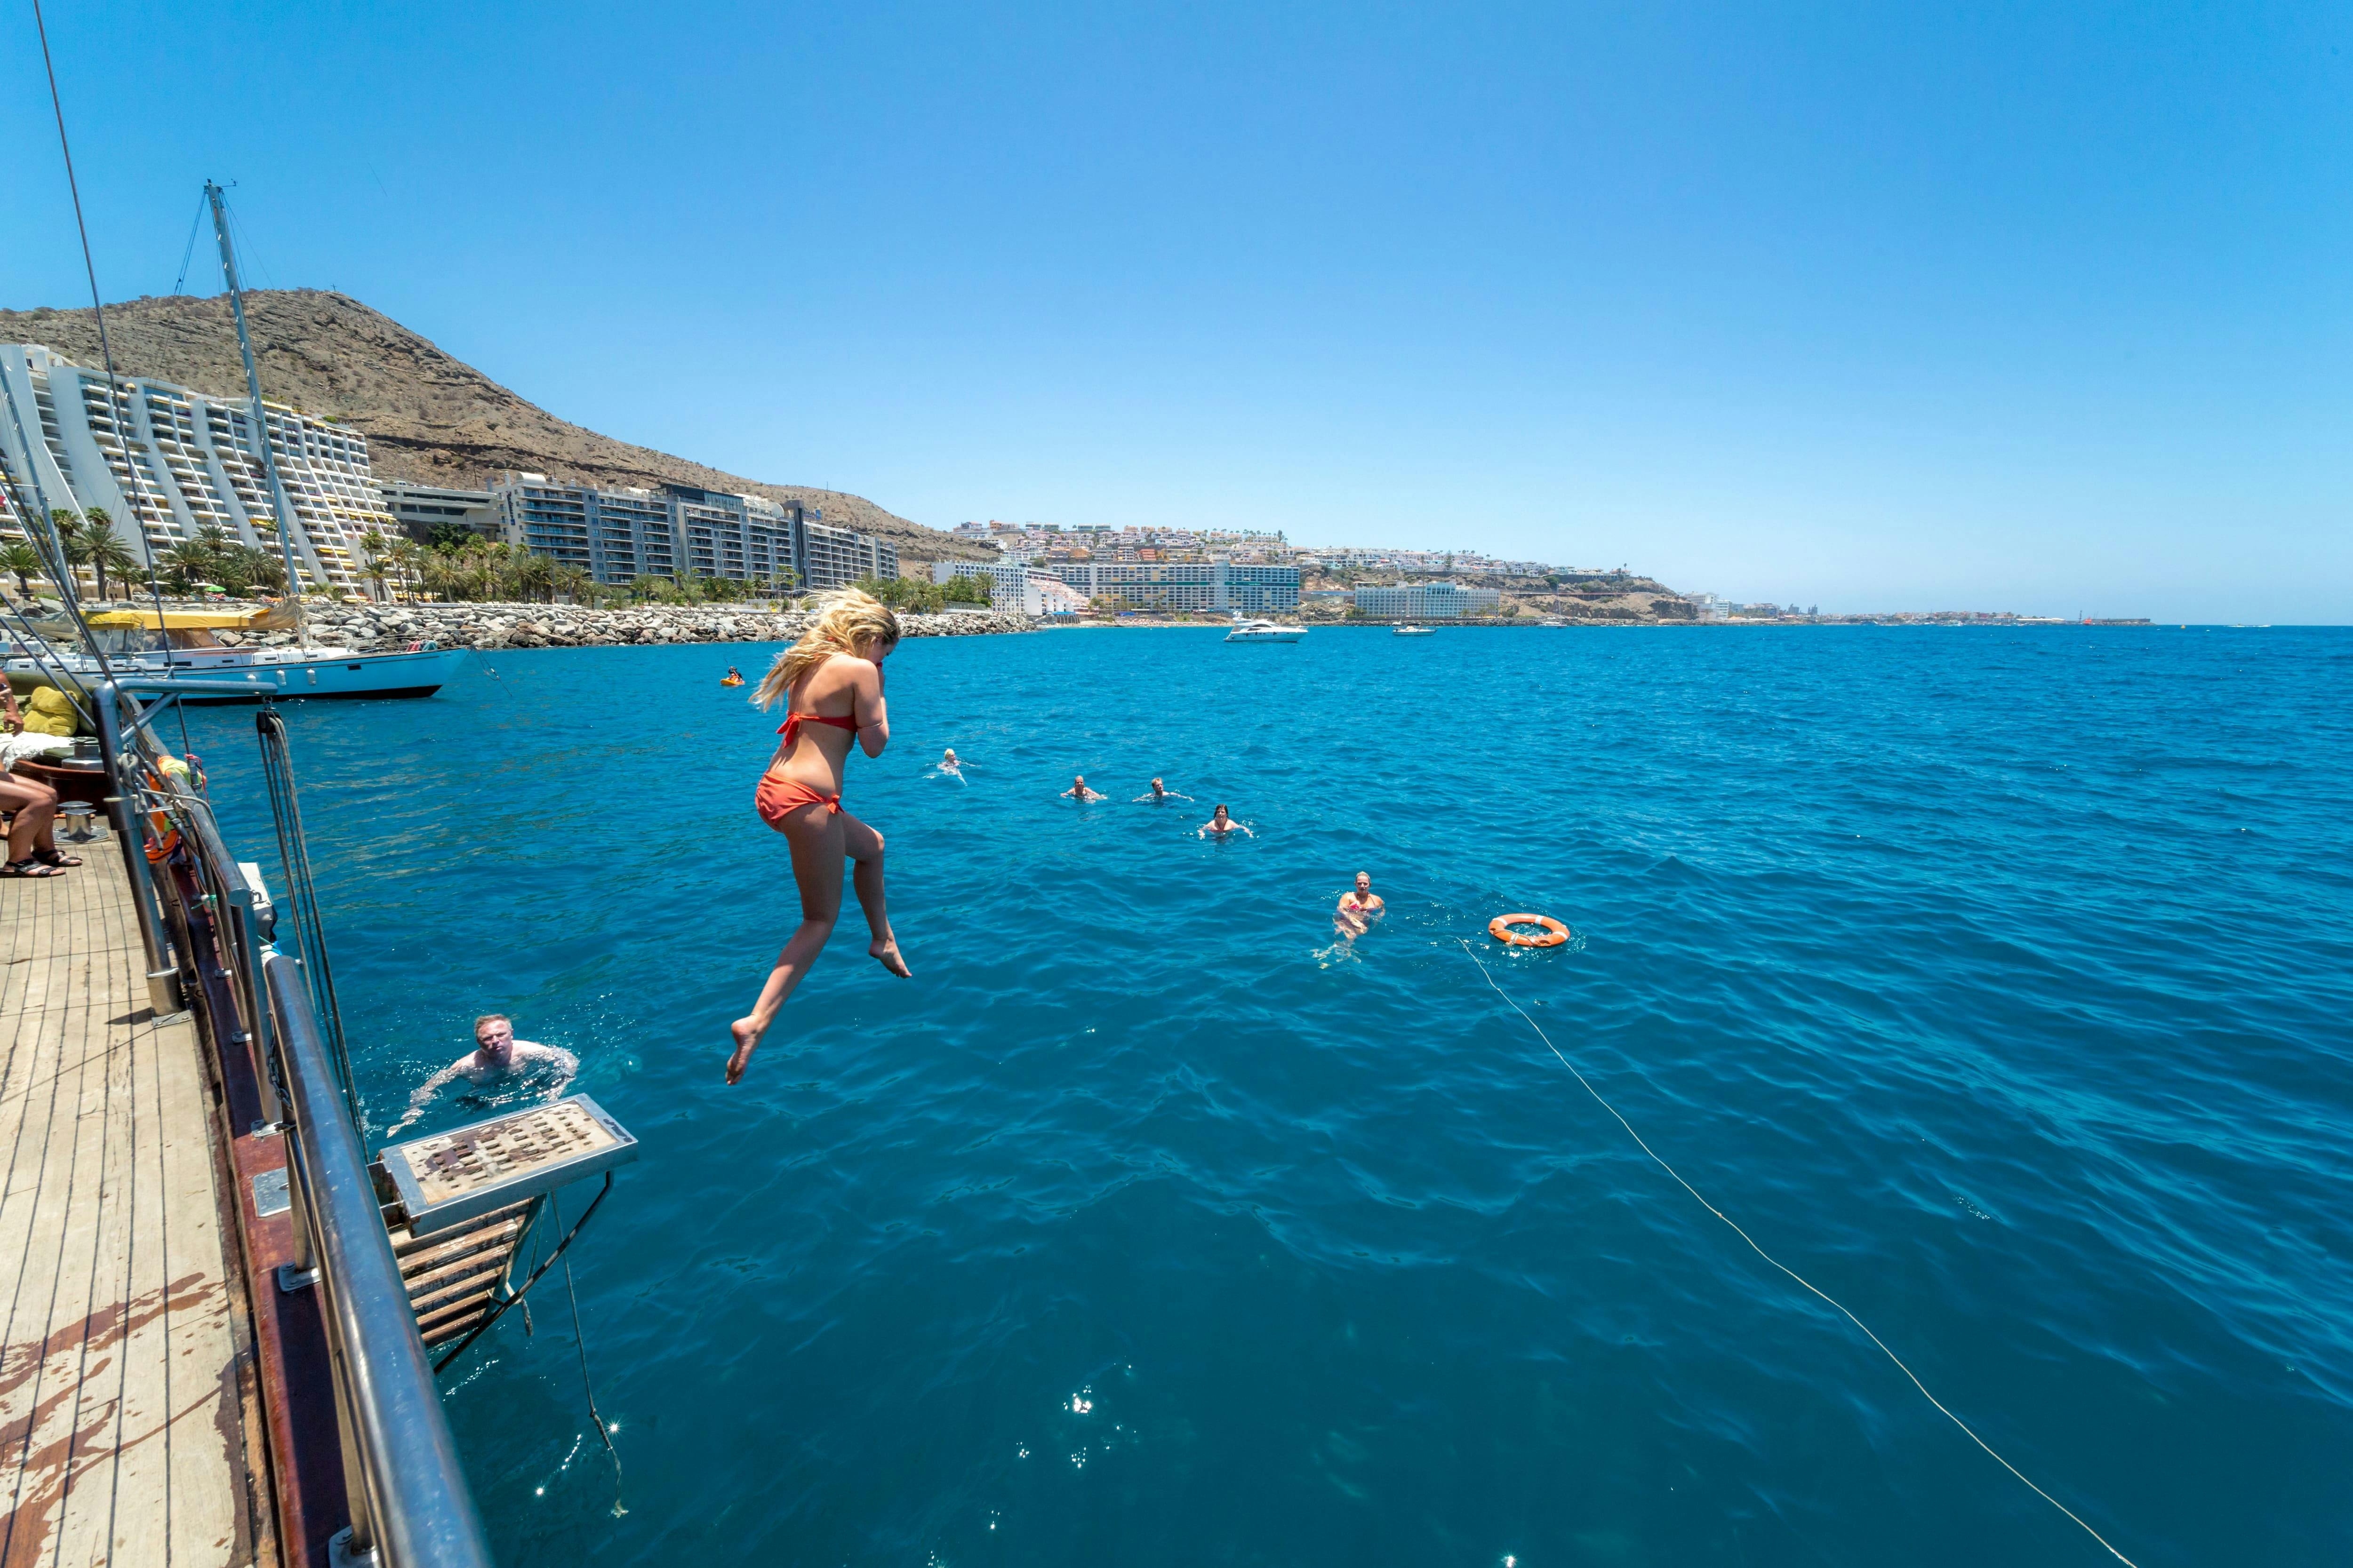
{"type": "Polygon", "coordinates": [[[751,701],[772,708],[784,698],[784,729],[776,755],[760,776],[753,804],[760,820],[784,835],[793,849],[793,882],[800,884],[800,929],[767,971],[760,1001],[751,1018],[732,1025],[734,1056],[727,1058],[727,1081],[734,1084],[760,1048],[760,1037],[776,1023],[776,1011],[793,994],[809,964],[833,936],[842,912],[842,860],[856,860],[852,886],[866,910],[873,943],[866,952],[894,976],[906,978],[906,959],[889,931],[882,905],[882,835],[842,811],[842,764],[856,741],[868,757],[889,745],[889,715],[882,710],[882,661],[899,646],[899,618],[880,599],[842,588],[826,597],[826,609],[800,642],[776,654],[776,663],[753,689],[751,701]]]}

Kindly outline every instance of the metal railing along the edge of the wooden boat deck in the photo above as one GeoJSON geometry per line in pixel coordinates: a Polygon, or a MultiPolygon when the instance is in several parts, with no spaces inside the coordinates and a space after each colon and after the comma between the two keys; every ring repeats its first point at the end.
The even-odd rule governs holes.
{"type": "Polygon", "coordinates": [[[249,698],[252,689],[146,682],[127,672],[82,684],[113,783],[108,816],[139,905],[155,1011],[181,1009],[184,980],[188,992],[202,990],[198,976],[184,976],[188,954],[174,957],[172,926],[158,903],[148,846],[151,816],[162,816],[179,835],[169,860],[186,867],[202,905],[184,914],[191,922],[209,914],[212,957],[238,1011],[238,1018],[216,1018],[216,1032],[224,1044],[252,1051],[264,1114],[254,1131],[287,1135],[294,1262],[280,1267],[278,1279],[256,1279],[254,1288],[320,1293],[351,1509],[351,1528],[329,1542],[329,1559],[381,1568],[489,1568],[482,1519],[416,1335],[367,1150],[329,1060],[304,964],[275,945],[278,907],[259,870],[231,856],[212,804],[162,766],[162,748],[148,731],[160,705],[144,708],[134,696],[134,689],[162,686],[165,703],[179,693],[249,698]]]}

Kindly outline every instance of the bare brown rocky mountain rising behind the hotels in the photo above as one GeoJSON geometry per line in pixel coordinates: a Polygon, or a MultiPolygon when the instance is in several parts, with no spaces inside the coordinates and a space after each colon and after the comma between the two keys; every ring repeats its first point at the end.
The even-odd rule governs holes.
{"type": "MultiPolygon", "coordinates": [[[[694,484],[824,508],[826,522],[889,538],[906,562],[988,555],[866,496],[762,484],[584,430],[346,294],[261,289],[245,296],[245,317],[264,393],[367,435],[369,461],[386,480],[482,489],[499,470],[520,468],[574,484],[694,484]]],[[[226,294],[108,306],[106,336],[120,374],[214,395],[245,388],[226,294]]],[[[47,343],[80,364],[104,364],[89,310],[0,310],[0,343],[47,343]]]]}

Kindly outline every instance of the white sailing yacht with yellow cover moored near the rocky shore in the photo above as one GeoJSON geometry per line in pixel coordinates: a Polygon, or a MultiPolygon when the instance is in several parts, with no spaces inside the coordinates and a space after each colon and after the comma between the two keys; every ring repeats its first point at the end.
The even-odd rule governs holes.
{"type": "MultiPolygon", "coordinates": [[[[233,682],[252,686],[249,701],[264,696],[433,696],[456,675],[466,661],[466,649],[442,649],[416,644],[398,654],[360,654],[339,646],[226,646],[214,632],[235,630],[261,635],[280,621],[275,609],[252,611],[191,611],[191,609],[113,609],[89,616],[89,632],[99,639],[115,670],[136,670],[141,677],[193,679],[209,684],[233,682]]],[[[59,649],[49,661],[14,656],[7,661],[9,675],[54,675],[52,663],[64,663],[66,675],[99,677],[101,665],[87,649],[59,649]]],[[[186,698],[191,703],[235,703],[226,693],[186,698]]]]}

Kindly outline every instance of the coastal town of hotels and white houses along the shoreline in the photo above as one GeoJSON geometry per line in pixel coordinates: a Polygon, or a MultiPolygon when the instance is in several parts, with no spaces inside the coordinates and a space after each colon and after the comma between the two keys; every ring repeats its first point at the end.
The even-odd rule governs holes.
{"type": "MultiPolygon", "coordinates": [[[[94,588],[104,590],[108,574],[115,585],[148,585],[151,567],[153,588],[181,597],[282,588],[249,397],[108,376],[45,343],[0,343],[0,475],[68,524],[61,538],[94,588]]],[[[760,489],[598,484],[529,468],[504,468],[478,484],[393,477],[376,470],[355,421],[268,402],[261,423],[292,512],[294,567],[313,592],[346,604],[779,607],[868,583],[911,611],[995,611],[967,623],[972,630],[1235,616],[1487,625],[2033,621],[2000,611],[1824,616],[1819,607],[1678,592],[1631,567],[1501,559],[1475,548],[1294,543],[1266,527],[988,520],[953,529],[901,524],[885,536],[760,489]]],[[[7,515],[0,559],[16,555],[16,585],[31,592],[40,559],[26,545],[24,520],[7,515]]],[[[459,616],[445,630],[489,646],[588,635],[574,616],[562,623],[459,616]]],[[[675,625],[638,616],[593,639],[666,637],[675,625]]]]}

